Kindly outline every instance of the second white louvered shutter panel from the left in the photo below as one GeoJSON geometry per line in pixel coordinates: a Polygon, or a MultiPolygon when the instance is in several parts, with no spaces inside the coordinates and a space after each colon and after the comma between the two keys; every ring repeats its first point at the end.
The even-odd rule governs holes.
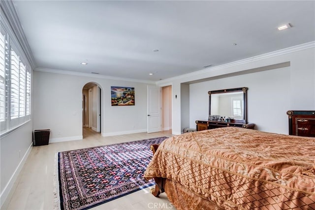
{"type": "Polygon", "coordinates": [[[15,53],[14,50],[11,49],[11,99],[10,99],[10,117],[11,119],[15,119],[19,117],[19,62],[20,58],[15,53]]]}

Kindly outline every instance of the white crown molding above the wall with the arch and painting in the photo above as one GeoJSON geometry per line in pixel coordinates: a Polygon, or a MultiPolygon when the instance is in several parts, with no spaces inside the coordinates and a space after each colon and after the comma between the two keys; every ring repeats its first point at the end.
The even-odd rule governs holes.
{"type": "Polygon", "coordinates": [[[93,77],[93,78],[102,78],[102,79],[120,80],[120,81],[128,81],[128,82],[156,84],[155,81],[150,81],[150,80],[130,79],[130,78],[124,78],[124,77],[106,76],[106,75],[101,75],[101,74],[82,73],[82,72],[67,71],[67,70],[55,70],[55,69],[46,69],[46,68],[36,68],[34,70],[35,71],[42,71],[42,72],[49,72],[49,73],[60,73],[60,74],[86,76],[86,77],[93,77]]]}

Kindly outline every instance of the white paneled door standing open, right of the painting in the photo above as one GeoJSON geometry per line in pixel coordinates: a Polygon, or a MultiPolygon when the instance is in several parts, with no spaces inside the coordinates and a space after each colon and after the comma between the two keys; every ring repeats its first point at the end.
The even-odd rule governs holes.
{"type": "Polygon", "coordinates": [[[148,133],[161,131],[161,88],[158,86],[147,87],[148,94],[148,133]]]}

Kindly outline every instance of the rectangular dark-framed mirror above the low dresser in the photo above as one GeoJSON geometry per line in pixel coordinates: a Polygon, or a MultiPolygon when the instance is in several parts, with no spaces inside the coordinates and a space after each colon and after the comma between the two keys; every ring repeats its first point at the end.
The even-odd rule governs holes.
{"type": "Polygon", "coordinates": [[[209,91],[209,120],[247,123],[247,88],[209,91]]]}

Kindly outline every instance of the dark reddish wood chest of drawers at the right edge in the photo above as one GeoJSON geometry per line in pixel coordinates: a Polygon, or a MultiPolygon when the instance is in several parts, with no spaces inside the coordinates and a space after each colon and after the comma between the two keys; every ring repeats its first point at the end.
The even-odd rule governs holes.
{"type": "Polygon", "coordinates": [[[315,111],[287,111],[289,135],[315,137],[315,111]]]}

